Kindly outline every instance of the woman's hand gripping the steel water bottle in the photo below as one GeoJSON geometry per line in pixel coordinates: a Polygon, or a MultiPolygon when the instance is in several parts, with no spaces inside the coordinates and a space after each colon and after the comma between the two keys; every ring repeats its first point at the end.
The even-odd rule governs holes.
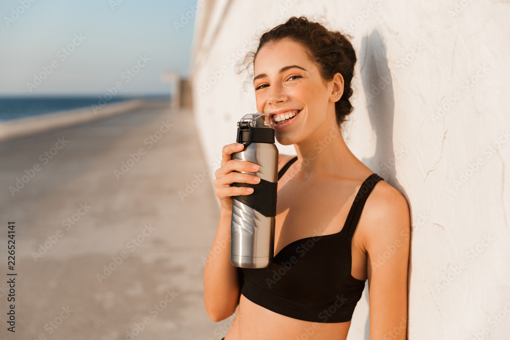
{"type": "Polygon", "coordinates": [[[232,211],[232,196],[243,196],[253,193],[252,188],[233,187],[233,183],[249,183],[254,185],[259,184],[260,182],[260,177],[247,173],[236,172],[259,171],[259,166],[255,163],[232,159],[232,154],[234,152],[242,151],[243,148],[244,145],[240,143],[232,143],[223,146],[221,167],[214,173],[216,176],[216,179],[214,180],[216,196],[220,199],[221,208],[225,208],[229,211],[232,211]]]}

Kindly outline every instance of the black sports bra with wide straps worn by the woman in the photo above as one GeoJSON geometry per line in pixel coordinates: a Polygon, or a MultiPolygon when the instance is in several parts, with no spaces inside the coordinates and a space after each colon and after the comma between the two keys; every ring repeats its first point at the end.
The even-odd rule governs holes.
{"type": "MultiPolygon", "coordinates": [[[[297,160],[290,160],[278,179],[297,160]]],[[[365,289],[351,275],[351,242],[363,206],[382,178],[373,173],[361,185],[340,232],[303,238],[279,251],[267,268],[238,268],[241,294],[290,318],[322,323],[349,321],[365,289]]]]}

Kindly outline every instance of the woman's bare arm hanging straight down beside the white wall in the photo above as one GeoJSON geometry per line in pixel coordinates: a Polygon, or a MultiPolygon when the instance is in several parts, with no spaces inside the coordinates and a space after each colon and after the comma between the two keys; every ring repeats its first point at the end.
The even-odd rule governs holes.
{"type": "Polygon", "coordinates": [[[409,206],[405,197],[386,182],[371,203],[366,241],[370,339],[405,339],[409,206]]]}

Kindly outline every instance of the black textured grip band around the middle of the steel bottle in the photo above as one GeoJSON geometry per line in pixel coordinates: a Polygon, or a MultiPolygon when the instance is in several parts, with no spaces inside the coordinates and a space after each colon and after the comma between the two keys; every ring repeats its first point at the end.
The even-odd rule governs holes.
{"type": "Polygon", "coordinates": [[[248,205],[266,217],[276,216],[277,182],[260,179],[259,184],[233,183],[233,187],[253,188],[249,195],[233,196],[239,202],[248,205]]]}

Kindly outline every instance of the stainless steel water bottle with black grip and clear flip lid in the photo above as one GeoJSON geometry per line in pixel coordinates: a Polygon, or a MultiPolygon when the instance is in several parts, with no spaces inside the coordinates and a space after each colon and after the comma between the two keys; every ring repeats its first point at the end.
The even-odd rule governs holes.
{"type": "Polygon", "coordinates": [[[257,172],[244,172],[260,177],[259,184],[233,183],[250,187],[246,196],[233,196],[230,260],[236,267],[265,268],[274,256],[274,222],[278,180],[278,149],[274,144],[274,128],[268,114],[248,114],[237,123],[237,143],[242,151],[232,159],[259,165],[257,172]]]}

